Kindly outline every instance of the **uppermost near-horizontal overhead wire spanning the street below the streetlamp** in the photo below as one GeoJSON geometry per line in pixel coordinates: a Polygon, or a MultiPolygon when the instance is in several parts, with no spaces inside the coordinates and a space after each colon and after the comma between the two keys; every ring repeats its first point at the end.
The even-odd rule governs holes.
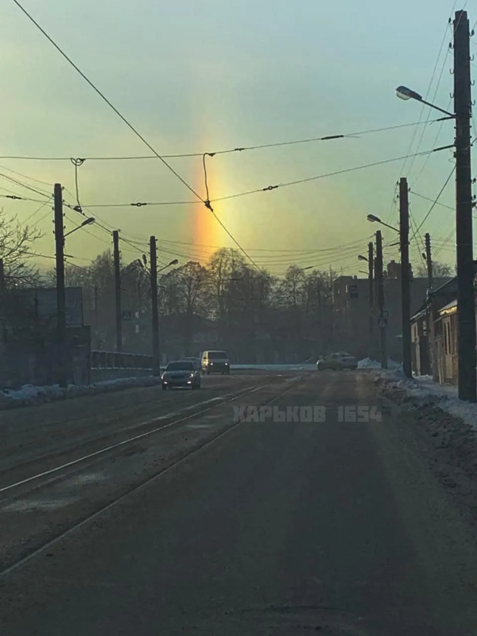
{"type": "MultiPolygon", "coordinates": [[[[441,118],[436,120],[432,120],[430,123],[434,121],[441,121],[441,118]]],[[[204,155],[228,155],[232,153],[242,153],[244,151],[252,151],[252,150],[261,150],[266,148],[279,148],[280,146],[296,146],[299,144],[309,144],[317,141],[331,141],[333,139],[354,139],[359,137],[360,135],[369,135],[378,132],[387,132],[391,130],[399,130],[400,128],[411,128],[413,126],[418,126],[422,124],[422,121],[413,121],[411,123],[397,124],[392,126],[385,126],[382,128],[370,128],[369,130],[358,130],[357,132],[349,132],[343,134],[333,134],[333,135],[324,135],[322,137],[309,137],[307,139],[294,139],[291,141],[280,141],[273,142],[268,144],[256,144],[254,146],[242,146],[237,148],[229,148],[225,150],[216,150],[216,151],[207,151],[207,152],[194,152],[194,153],[176,153],[172,155],[129,155],[129,156],[83,156],[78,158],[81,162],[85,161],[135,161],[135,160],[156,160],[158,158],[163,159],[179,159],[179,158],[193,158],[200,157],[202,158],[204,155]]],[[[0,159],[11,159],[11,160],[25,160],[25,161],[71,161],[71,157],[66,156],[28,156],[28,155],[2,155],[0,159]]],[[[13,172],[13,170],[11,170],[13,172]]],[[[18,173],[20,174],[20,173],[18,173]]]]}

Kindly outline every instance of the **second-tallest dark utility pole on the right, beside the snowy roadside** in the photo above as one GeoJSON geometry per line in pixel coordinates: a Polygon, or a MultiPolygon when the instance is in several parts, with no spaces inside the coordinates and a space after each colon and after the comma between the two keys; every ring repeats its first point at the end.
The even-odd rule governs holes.
{"type": "Polygon", "coordinates": [[[409,201],[408,180],[399,179],[399,246],[401,249],[401,322],[403,333],[403,373],[412,377],[411,298],[409,266],[409,201]]]}

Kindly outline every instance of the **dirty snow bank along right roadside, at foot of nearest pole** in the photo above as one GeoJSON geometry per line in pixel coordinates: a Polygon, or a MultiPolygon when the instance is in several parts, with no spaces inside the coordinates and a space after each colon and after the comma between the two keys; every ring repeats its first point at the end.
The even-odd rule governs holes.
{"type": "Polygon", "coordinates": [[[389,391],[404,391],[410,406],[436,406],[477,431],[477,404],[459,400],[456,386],[437,384],[429,375],[404,378],[402,370],[380,370],[376,381],[389,391]]]}

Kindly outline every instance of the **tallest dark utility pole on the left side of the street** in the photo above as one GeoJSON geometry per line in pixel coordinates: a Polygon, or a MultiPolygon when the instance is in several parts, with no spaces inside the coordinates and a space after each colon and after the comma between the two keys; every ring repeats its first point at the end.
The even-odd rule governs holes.
{"type": "Polygon", "coordinates": [[[66,292],[64,263],[64,227],[63,227],[63,191],[60,183],[55,183],[53,194],[55,210],[55,256],[57,270],[57,361],[58,384],[62,388],[68,385],[65,371],[66,343],[66,292]]]}

